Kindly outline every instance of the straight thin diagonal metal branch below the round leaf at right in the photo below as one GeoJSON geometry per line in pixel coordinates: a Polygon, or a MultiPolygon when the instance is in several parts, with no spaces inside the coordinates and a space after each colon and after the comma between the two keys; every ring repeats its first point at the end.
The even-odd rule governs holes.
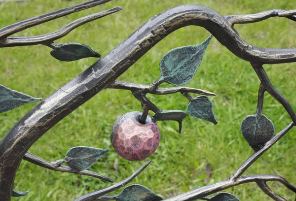
{"type": "Polygon", "coordinates": [[[258,151],[252,154],[250,158],[247,159],[235,172],[231,174],[229,180],[236,180],[240,175],[242,175],[260,156],[262,156],[272,145],[274,145],[280,138],[287,134],[295,124],[292,122],[285,129],[283,129],[279,134],[275,135],[271,140],[266,142],[266,144],[258,151]]]}

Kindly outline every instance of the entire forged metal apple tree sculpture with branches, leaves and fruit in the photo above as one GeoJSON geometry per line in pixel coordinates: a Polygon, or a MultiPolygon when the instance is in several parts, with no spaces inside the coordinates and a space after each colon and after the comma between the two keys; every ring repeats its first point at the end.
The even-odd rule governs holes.
{"type": "MultiPolygon", "coordinates": [[[[63,29],[53,33],[30,37],[9,37],[9,35],[108,1],[110,0],[92,0],[4,27],[0,29],[0,47],[42,44],[52,48],[53,50],[51,51],[51,55],[61,61],[73,61],[85,57],[100,57],[100,54],[94,52],[87,45],[78,43],[55,44],[53,41],[65,36],[67,33],[71,32],[73,29],[82,24],[119,11],[121,7],[116,7],[107,11],[80,18],[67,25],[63,29]]],[[[14,177],[19,164],[23,159],[48,169],[84,174],[100,178],[105,181],[114,182],[109,177],[86,170],[107,152],[106,149],[74,147],[69,150],[64,159],[58,160],[56,162],[47,162],[27,152],[28,149],[37,141],[37,139],[46,131],[48,131],[56,123],[70,114],[74,109],[79,107],[81,104],[92,98],[103,89],[115,88],[130,90],[135,98],[141,102],[143,107],[143,112],[133,113],[131,116],[129,116],[130,114],[125,115],[114,125],[114,131],[112,130],[111,134],[112,142],[115,144],[114,147],[118,147],[117,151],[122,152],[123,157],[128,151],[127,148],[129,146],[127,145],[129,143],[134,143],[133,148],[139,149],[137,147],[139,145],[138,141],[143,142],[147,140],[145,142],[148,144],[148,140],[151,139],[149,137],[145,138],[146,133],[143,132],[142,135],[135,135],[138,136],[135,137],[138,141],[134,140],[134,142],[132,142],[129,141],[129,139],[120,141],[120,137],[124,138],[126,136],[123,136],[123,131],[119,130],[131,129],[130,125],[128,124],[123,125],[126,126],[126,128],[123,128],[121,125],[126,117],[128,117],[129,120],[134,118],[136,121],[136,123],[134,122],[135,127],[142,127],[142,125],[146,126],[146,123],[147,125],[151,125],[152,122],[160,120],[175,120],[179,122],[179,132],[181,132],[182,120],[185,118],[186,112],[180,110],[161,110],[150,100],[148,100],[146,97],[146,94],[148,93],[155,95],[165,95],[180,92],[187,100],[189,100],[189,104],[187,106],[188,114],[190,114],[192,117],[204,119],[217,124],[218,122],[215,119],[213,112],[213,104],[206,97],[215,96],[214,93],[188,87],[158,88],[158,86],[163,82],[177,86],[188,83],[193,78],[193,75],[198,69],[206,47],[211,38],[214,36],[234,55],[250,62],[261,81],[259,86],[257,113],[255,115],[247,116],[241,125],[242,134],[250,146],[255,150],[255,153],[250,156],[250,158],[248,158],[240,167],[238,167],[237,170],[226,180],[204,186],[202,188],[198,188],[172,198],[162,199],[142,185],[128,186],[123,189],[119,195],[106,195],[127,185],[149,165],[150,161],[148,161],[125,180],[111,185],[110,187],[85,194],[77,198],[75,201],[238,201],[235,196],[228,193],[219,193],[211,198],[208,196],[224,189],[249,182],[255,182],[259,188],[273,200],[285,201],[284,198],[272,191],[266,184],[267,181],[278,181],[296,193],[296,187],[291,185],[285,178],[278,175],[242,176],[242,174],[272,145],[274,145],[281,137],[287,134],[296,124],[296,114],[292,106],[288,100],[286,100],[286,98],[283,97],[272,86],[263,68],[264,64],[296,62],[296,49],[263,49],[255,47],[246,43],[238,35],[237,31],[234,29],[234,25],[255,23],[270,17],[286,17],[290,20],[296,21],[295,15],[296,10],[285,11],[275,9],[251,15],[222,16],[216,11],[205,6],[181,5],[168,9],[154,16],[148,20],[147,23],[141,26],[136,32],[132,33],[120,45],[115,47],[108,55],[98,60],[95,64],[79,74],[68,84],[61,87],[51,96],[41,101],[3,137],[3,139],[0,141],[0,200],[10,201],[11,196],[25,196],[29,193],[29,191],[18,192],[13,190],[14,177]],[[172,33],[175,30],[188,25],[204,27],[210,33],[212,33],[212,35],[200,45],[185,46],[169,51],[160,61],[159,67],[161,71],[161,77],[150,85],[116,81],[118,76],[131,67],[162,38],[167,36],[169,33],[172,33]],[[268,92],[274,99],[278,100],[292,119],[292,123],[275,136],[273,136],[274,127],[272,122],[266,116],[264,116],[262,112],[263,97],[265,92],[268,92]],[[188,93],[201,94],[202,96],[193,98],[188,93]],[[152,110],[155,113],[151,119],[148,117],[149,110],[152,110]],[[62,166],[62,163],[67,163],[68,167],[62,166]]],[[[4,86],[0,86],[1,112],[13,109],[25,103],[38,100],[39,99],[35,99],[22,93],[10,90],[4,86]]],[[[153,123],[152,127],[149,127],[149,129],[152,131],[151,136],[153,136],[153,138],[156,136],[154,139],[154,145],[158,146],[157,140],[159,139],[157,139],[157,136],[159,138],[159,130],[157,125],[153,123]]],[[[127,134],[134,134],[133,132],[129,131],[124,132],[127,134]]],[[[150,134],[147,135],[150,136],[150,134]]],[[[126,158],[131,160],[141,160],[151,154],[153,150],[149,150],[148,154],[140,151],[137,153],[137,157],[134,156],[134,158],[129,158],[128,154],[126,154],[126,158]]],[[[133,150],[130,152],[132,153],[133,150]]]]}

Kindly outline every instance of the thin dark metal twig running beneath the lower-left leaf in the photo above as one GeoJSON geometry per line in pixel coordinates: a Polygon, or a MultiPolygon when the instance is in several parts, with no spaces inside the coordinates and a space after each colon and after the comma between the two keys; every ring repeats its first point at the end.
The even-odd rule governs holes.
{"type": "Polygon", "coordinates": [[[95,178],[98,178],[98,179],[102,179],[104,181],[108,181],[108,182],[114,182],[113,179],[107,177],[107,176],[104,176],[104,175],[101,175],[97,172],[93,172],[93,171],[89,171],[89,170],[82,170],[82,171],[76,171],[74,169],[71,169],[70,167],[67,167],[67,166],[59,166],[59,167],[56,167],[54,165],[55,162],[48,162],[48,161],[45,161],[44,159],[41,159],[37,156],[35,156],[34,154],[31,154],[29,152],[27,152],[23,158],[24,160],[26,161],[29,161],[30,163],[33,163],[37,166],[40,166],[40,167],[45,167],[47,169],[52,169],[52,170],[55,170],[55,171],[61,171],[61,172],[69,172],[69,173],[74,173],[74,174],[82,174],[82,175],[87,175],[87,176],[92,176],[92,177],[95,177],[95,178]]]}

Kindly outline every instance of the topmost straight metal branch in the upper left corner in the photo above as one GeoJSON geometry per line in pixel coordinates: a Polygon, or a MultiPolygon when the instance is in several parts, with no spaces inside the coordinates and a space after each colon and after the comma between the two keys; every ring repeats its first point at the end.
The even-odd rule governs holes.
{"type": "Polygon", "coordinates": [[[88,8],[106,3],[108,1],[111,1],[111,0],[91,0],[85,3],[80,3],[78,5],[74,5],[68,8],[63,8],[50,13],[46,13],[44,15],[40,15],[21,22],[14,23],[12,25],[9,25],[7,27],[3,27],[0,29],[0,39],[5,38],[9,35],[12,35],[13,33],[17,33],[25,29],[28,29],[30,27],[34,27],[36,25],[69,15],[74,12],[88,9],[88,8]]]}

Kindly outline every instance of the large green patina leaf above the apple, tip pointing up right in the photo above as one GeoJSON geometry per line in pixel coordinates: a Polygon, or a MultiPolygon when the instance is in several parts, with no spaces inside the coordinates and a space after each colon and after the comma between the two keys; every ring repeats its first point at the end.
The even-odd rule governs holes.
{"type": "Polygon", "coordinates": [[[168,51],[159,64],[160,79],[176,86],[190,82],[212,37],[213,35],[210,35],[198,45],[178,47],[168,51]]]}

